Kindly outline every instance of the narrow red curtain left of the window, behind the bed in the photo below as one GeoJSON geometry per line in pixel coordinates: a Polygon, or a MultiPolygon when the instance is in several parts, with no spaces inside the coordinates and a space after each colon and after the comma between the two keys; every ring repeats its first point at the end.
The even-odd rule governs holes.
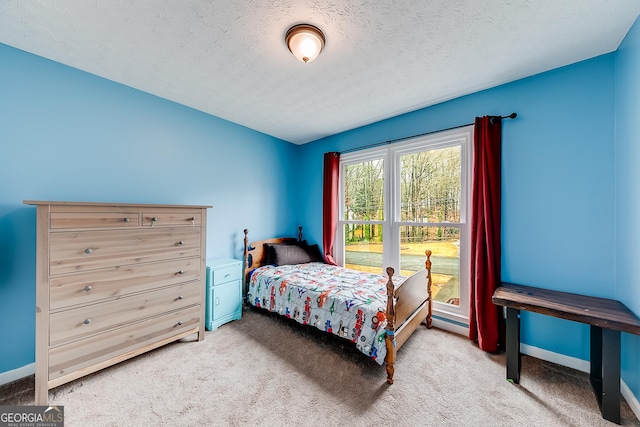
{"type": "Polygon", "coordinates": [[[340,153],[324,153],[322,188],[322,247],[327,264],[336,265],[333,257],[336,227],[338,226],[338,183],[340,179],[340,153]]]}

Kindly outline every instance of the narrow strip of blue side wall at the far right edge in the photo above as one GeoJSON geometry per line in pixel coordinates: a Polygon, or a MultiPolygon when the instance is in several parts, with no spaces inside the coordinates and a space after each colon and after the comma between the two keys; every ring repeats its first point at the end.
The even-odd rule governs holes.
{"type": "MultiPolygon", "coordinates": [[[[616,56],[616,296],[640,316],[640,20],[616,56]]],[[[640,396],[640,337],[623,334],[622,351],[622,377],[640,396]]]]}

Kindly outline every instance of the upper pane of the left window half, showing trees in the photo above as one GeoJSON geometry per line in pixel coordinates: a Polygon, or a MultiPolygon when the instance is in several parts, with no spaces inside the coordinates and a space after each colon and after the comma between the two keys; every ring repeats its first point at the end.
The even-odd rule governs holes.
{"type": "Polygon", "coordinates": [[[345,165],[344,220],[384,220],[383,167],[382,159],[345,165]]]}

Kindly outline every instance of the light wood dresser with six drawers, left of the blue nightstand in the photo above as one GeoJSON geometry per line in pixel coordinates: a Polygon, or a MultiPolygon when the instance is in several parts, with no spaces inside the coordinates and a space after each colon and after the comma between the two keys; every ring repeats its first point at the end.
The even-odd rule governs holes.
{"type": "Polygon", "coordinates": [[[53,387],[204,339],[210,206],[24,203],[37,207],[36,405],[53,387]]]}

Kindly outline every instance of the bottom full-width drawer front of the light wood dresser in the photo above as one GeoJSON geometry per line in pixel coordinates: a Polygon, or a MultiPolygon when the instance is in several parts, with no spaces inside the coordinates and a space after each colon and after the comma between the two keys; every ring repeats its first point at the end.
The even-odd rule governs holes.
{"type": "Polygon", "coordinates": [[[145,319],[84,340],[49,349],[49,380],[170,339],[200,324],[200,306],[145,319]]]}

